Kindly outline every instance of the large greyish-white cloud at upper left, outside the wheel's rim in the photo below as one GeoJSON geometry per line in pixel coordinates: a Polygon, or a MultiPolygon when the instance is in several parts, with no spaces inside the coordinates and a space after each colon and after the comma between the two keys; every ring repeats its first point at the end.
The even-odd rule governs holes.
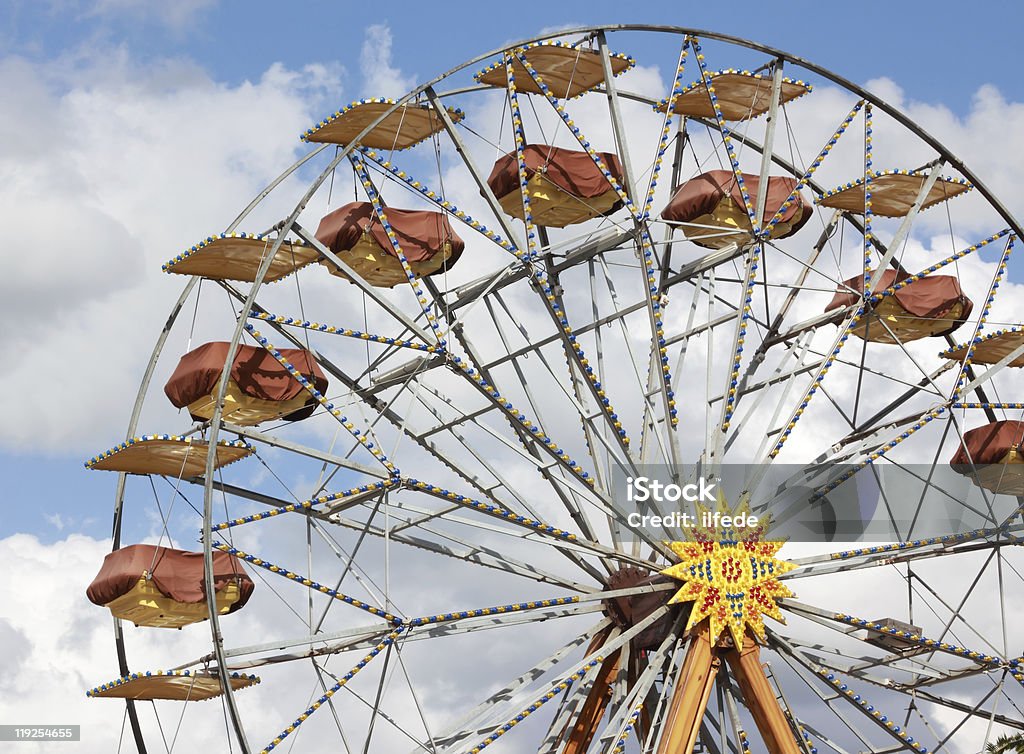
{"type": "MultiPolygon", "coordinates": [[[[114,428],[140,354],[183,283],[161,263],[223,229],[240,197],[292,161],[300,131],[338,99],[339,76],[336,66],[273,65],[226,86],[190,64],[140,67],[117,49],[43,67],[0,60],[14,98],[0,115],[0,218],[17,239],[0,310],[18,323],[7,345],[20,357],[3,381],[29,394],[46,375],[59,396],[23,403],[0,445],[59,438],[85,452],[123,431],[114,428]]],[[[246,229],[263,229],[274,211],[246,229]]]]}

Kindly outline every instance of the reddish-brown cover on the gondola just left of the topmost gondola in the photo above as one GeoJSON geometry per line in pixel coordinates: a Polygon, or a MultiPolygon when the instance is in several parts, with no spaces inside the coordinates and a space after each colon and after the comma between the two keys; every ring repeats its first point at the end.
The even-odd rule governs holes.
{"type": "MultiPolygon", "coordinates": [[[[385,213],[398,238],[401,252],[410,262],[430,259],[441,251],[444,242],[449,242],[452,244],[451,266],[466,248],[466,243],[449,224],[447,216],[440,212],[387,207],[385,213]]],[[[366,231],[386,253],[395,255],[387,233],[369,202],[351,202],[326,215],[316,228],[316,240],[339,254],[355,246],[366,231]]]]}

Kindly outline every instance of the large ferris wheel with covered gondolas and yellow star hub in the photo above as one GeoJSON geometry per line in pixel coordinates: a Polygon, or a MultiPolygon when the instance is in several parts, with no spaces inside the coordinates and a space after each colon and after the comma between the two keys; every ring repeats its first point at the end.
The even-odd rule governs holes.
{"type": "Polygon", "coordinates": [[[127,438],[86,464],[119,474],[89,590],[119,667],[88,694],[126,700],[122,743],[1024,730],[1021,228],[936,139],[787,53],[640,26],[519,42],[301,138],[165,265],[184,289],[127,438]],[[644,475],[729,492],[688,527],[630,499],[644,475]],[[886,541],[837,545],[844,500],[886,541]]]}

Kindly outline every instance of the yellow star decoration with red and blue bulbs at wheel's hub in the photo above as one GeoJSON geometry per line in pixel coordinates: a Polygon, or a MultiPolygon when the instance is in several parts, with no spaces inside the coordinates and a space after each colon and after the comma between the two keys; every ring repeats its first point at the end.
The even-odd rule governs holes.
{"type": "MultiPolygon", "coordinates": [[[[720,517],[739,514],[750,514],[745,503],[731,510],[719,500],[720,517]]],[[[715,511],[697,503],[696,526],[685,530],[687,541],[666,543],[679,562],[662,573],[686,582],[669,603],[693,602],[687,629],[707,618],[712,643],[728,628],[736,648],[742,648],[746,627],[764,639],[764,616],[785,623],[776,600],[794,593],[778,577],[797,567],[775,557],[782,542],[761,539],[767,529],[764,518],[757,527],[727,528],[714,526],[714,516],[715,511]]]]}

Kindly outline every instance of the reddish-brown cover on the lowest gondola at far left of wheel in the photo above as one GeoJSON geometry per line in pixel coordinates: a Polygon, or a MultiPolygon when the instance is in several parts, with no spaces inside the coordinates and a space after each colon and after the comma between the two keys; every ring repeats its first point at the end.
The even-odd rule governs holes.
{"type": "MultiPolygon", "coordinates": [[[[92,580],[86,594],[95,604],[104,605],[127,594],[143,574],[167,597],[178,602],[203,602],[203,553],[172,550],[156,545],[131,545],[115,550],[103,558],[103,566],[92,580]]],[[[241,597],[228,612],[242,608],[253,592],[253,582],[242,568],[242,561],[227,552],[213,553],[214,589],[220,591],[230,583],[239,584],[241,597]]]]}

